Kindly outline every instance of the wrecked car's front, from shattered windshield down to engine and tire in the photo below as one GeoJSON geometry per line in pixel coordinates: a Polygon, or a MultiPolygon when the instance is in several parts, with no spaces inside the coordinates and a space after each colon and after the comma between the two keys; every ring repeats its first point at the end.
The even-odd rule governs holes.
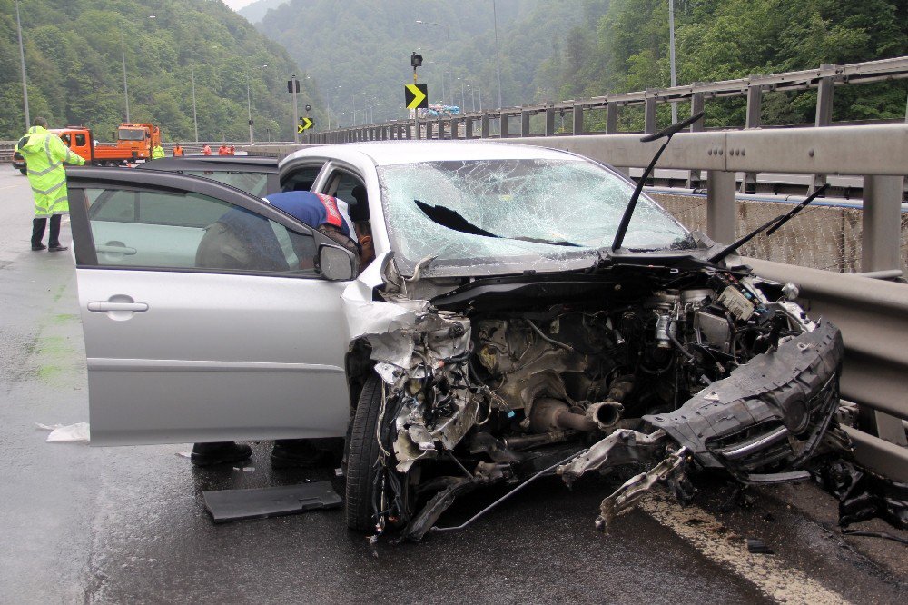
{"type": "Polygon", "coordinates": [[[418,541],[481,486],[636,467],[604,530],[658,482],[685,501],[701,471],[801,481],[847,448],[842,337],[793,284],[716,261],[645,197],[622,217],[633,183],[603,166],[508,153],[542,157],[380,170],[395,252],[344,297],[351,528],[418,541]]]}

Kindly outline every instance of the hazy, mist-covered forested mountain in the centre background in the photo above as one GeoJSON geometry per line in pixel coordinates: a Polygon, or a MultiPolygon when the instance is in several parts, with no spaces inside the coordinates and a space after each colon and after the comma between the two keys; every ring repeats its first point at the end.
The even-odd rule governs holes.
{"type": "MultiPolygon", "coordinates": [[[[558,54],[569,29],[582,23],[583,4],[582,0],[498,1],[505,105],[557,96],[554,74],[539,66],[558,54]]],[[[270,10],[257,26],[287,48],[318,82],[332,114],[341,124],[350,125],[354,104],[357,124],[366,113],[375,120],[406,115],[403,85],[412,82],[413,51],[425,58],[419,83],[429,85],[431,103],[441,103],[448,39],[453,86],[446,79],[444,102],[472,108],[475,99],[479,109],[481,98],[483,107],[498,106],[493,23],[489,0],[289,0],[270,10]],[[446,32],[442,25],[418,24],[417,20],[449,27],[446,32]]]]}

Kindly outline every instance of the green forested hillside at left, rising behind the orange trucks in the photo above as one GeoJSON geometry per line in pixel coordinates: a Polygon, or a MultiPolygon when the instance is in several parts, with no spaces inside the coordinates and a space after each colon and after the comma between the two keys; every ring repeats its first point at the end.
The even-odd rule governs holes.
{"type": "MultiPolygon", "coordinates": [[[[256,140],[292,138],[285,81],[299,67],[219,0],[23,0],[20,11],[33,118],[109,135],[125,118],[123,33],[133,122],[192,141],[194,61],[202,140],[249,137],[247,77],[256,140]]],[[[0,0],[0,42],[0,138],[13,139],[25,128],[13,0],[0,0]]],[[[300,102],[319,105],[306,88],[300,102]]]]}

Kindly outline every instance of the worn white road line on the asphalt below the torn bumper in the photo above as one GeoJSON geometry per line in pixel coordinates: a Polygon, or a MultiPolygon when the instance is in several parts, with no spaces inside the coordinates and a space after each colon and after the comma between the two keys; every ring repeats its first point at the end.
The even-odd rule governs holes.
{"type": "Polygon", "coordinates": [[[848,603],[842,595],[773,555],[751,554],[744,538],[728,531],[708,512],[696,506],[681,506],[662,495],[637,505],[667,529],[699,550],[706,559],[751,582],[767,597],[785,603],[848,603]]]}

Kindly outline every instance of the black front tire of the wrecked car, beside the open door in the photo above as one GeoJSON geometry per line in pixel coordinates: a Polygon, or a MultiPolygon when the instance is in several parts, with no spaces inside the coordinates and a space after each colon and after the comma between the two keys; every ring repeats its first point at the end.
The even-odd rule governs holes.
{"type": "Polygon", "coordinates": [[[378,472],[379,442],[375,426],[381,409],[381,380],[372,374],[362,387],[360,401],[353,414],[350,428],[350,449],[347,452],[347,487],[344,517],[347,527],[354,531],[372,533],[372,497],[375,475],[378,472]]]}

